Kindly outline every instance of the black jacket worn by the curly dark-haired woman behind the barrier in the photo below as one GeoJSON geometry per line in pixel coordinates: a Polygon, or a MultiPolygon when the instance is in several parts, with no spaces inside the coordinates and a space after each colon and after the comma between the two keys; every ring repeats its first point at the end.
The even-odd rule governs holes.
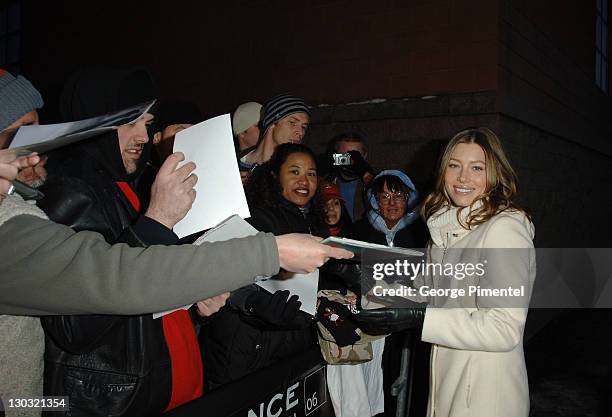
{"type": "MultiPolygon", "coordinates": [[[[311,233],[324,235],[326,228],[314,214],[304,216],[283,200],[280,207],[251,209],[249,223],[257,230],[275,235],[311,233]]],[[[264,304],[272,295],[252,285],[232,293],[233,307],[225,307],[210,318],[201,335],[206,387],[214,389],[283,358],[306,351],[317,343],[314,320],[299,312],[282,326],[271,325],[253,311],[248,301],[264,304]],[[262,302],[263,301],[263,302],[262,302]]]]}

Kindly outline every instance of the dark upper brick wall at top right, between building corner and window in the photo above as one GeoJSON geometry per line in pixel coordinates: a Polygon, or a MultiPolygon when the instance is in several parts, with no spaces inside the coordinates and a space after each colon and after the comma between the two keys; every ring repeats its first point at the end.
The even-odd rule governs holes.
{"type": "Polygon", "coordinates": [[[500,112],[612,156],[612,100],[595,85],[595,2],[500,0],[500,112]]]}

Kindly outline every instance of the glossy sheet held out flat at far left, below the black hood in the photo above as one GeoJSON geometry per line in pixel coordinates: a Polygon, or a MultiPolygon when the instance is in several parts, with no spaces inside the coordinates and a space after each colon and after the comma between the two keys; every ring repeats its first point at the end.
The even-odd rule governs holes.
{"type": "Polygon", "coordinates": [[[153,104],[155,100],[75,122],[21,126],[9,148],[28,149],[39,153],[48,152],[116,129],[118,126],[134,123],[149,111],[153,104]]]}

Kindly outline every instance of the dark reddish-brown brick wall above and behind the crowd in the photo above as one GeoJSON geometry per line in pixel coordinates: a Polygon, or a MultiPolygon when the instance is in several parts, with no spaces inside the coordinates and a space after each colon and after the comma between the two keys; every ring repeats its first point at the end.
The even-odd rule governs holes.
{"type": "Polygon", "coordinates": [[[22,68],[56,95],[79,65],[146,65],[162,96],[208,116],[283,91],[312,104],[487,91],[496,15],[491,0],[25,1],[22,68]]]}

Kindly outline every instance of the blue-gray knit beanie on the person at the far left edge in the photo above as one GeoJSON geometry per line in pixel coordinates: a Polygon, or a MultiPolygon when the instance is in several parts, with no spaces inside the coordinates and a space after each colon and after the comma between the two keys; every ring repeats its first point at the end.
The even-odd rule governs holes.
{"type": "Polygon", "coordinates": [[[40,93],[28,80],[21,75],[15,78],[0,68],[0,131],[42,106],[40,93]]]}

